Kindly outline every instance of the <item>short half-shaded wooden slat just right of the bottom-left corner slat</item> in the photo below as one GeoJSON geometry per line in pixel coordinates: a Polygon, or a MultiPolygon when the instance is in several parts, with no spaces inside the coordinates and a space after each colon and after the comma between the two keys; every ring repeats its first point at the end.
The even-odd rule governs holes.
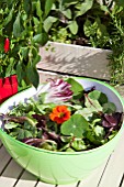
{"type": "Polygon", "coordinates": [[[34,187],[36,183],[37,178],[29,172],[24,170],[15,187],[34,187]]]}

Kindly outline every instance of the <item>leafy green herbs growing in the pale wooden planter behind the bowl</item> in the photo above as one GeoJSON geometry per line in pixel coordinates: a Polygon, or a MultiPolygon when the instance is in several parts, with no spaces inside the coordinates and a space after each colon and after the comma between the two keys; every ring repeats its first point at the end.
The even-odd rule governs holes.
{"type": "Polygon", "coordinates": [[[56,0],[44,30],[54,42],[112,50],[111,81],[124,82],[123,0],[56,0]]]}

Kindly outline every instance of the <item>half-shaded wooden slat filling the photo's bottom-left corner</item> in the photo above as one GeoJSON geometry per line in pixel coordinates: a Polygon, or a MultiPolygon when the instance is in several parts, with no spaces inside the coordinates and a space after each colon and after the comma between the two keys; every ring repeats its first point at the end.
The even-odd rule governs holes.
{"type": "Polygon", "coordinates": [[[0,176],[0,187],[13,187],[21,172],[22,167],[12,160],[0,176]]]}

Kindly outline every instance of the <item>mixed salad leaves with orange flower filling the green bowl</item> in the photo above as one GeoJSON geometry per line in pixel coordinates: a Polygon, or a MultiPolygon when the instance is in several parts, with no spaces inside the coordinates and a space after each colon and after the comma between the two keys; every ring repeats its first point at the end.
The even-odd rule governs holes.
{"type": "Polygon", "coordinates": [[[79,152],[109,142],[121,128],[122,112],[106,95],[84,90],[72,78],[50,79],[38,95],[2,114],[4,131],[40,148],[79,152]]]}

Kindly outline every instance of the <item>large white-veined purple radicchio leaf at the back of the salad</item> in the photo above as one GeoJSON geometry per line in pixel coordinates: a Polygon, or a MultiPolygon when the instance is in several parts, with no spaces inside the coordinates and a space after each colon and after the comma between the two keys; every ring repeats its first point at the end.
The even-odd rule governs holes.
{"type": "MultiPolygon", "coordinates": [[[[71,85],[63,79],[50,79],[46,88],[45,103],[68,101],[72,98],[71,85]]],[[[44,88],[43,88],[44,89],[44,88]]]]}

